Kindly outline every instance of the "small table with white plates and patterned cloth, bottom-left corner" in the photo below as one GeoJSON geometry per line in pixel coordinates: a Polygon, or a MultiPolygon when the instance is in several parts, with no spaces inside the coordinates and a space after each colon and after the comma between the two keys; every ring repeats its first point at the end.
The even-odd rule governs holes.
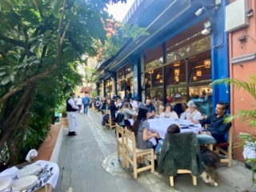
{"type": "Polygon", "coordinates": [[[0,192],[33,192],[47,183],[55,187],[58,174],[58,165],[54,162],[39,160],[20,170],[13,166],[0,173],[0,192]]]}

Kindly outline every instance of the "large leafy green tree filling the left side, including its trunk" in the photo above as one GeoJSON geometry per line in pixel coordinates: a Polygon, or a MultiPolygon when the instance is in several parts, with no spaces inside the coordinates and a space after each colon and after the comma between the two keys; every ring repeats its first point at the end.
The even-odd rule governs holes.
{"type": "MultiPolygon", "coordinates": [[[[72,86],[82,82],[82,76],[76,72],[77,61],[82,54],[98,53],[92,46],[95,39],[105,43],[104,23],[110,17],[104,9],[118,1],[126,2],[1,1],[0,151],[6,144],[10,166],[18,162],[18,151],[28,130],[36,129],[33,121],[44,115],[41,108],[54,109],[72,86]]],[[[49,113],[45,125],[40,126],[49,125],[49,113]]]]}

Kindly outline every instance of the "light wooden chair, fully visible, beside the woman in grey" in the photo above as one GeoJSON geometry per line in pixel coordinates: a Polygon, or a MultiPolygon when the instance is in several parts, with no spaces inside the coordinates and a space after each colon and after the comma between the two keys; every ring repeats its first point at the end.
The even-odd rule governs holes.
{"type": "Polygon", "coordinates": [[[134,132],[131,132],[130,130],[125,130],[125,137],[126,137],[126,167],[129,168],[129,165],[131,164],[134,166],[134,178],[138,178],[138,173],[142,172],[144,170],[151,170],[151,173],[154,174],[154,150],[148,149],[148,150],[140,150],[136,148],[136,142],[135,142],[135,136],[134,132]],[[131,142],[129,142],[129,139],[131,142]],[[130,158],[129,154],[132,155],[132,158],[130,158]],[[150,166],[144,166],[142,168],[137,168],[137,158],[142,157],[142,161],[147,158],[150,162],[150,166]]]}

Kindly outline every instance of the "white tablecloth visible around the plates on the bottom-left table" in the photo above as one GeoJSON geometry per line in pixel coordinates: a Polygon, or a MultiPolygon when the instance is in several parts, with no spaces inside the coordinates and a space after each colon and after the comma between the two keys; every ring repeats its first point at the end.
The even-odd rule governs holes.
{"type": "MultiPolygon", "coordinates": [[[[46,183],[49,183],[51,186],[53,186],[55,188],[55,186],[57,185],[57,182],[58,182],[58,175],[59,175],[58,165],[54,162],[47,162],[47,161],[43,161],[43,160],[38,160],[37,162],[34,162],[33,164],[39,164],[42,168],[44,168],[46,165],[48,165],[49,169],[50,169],[50,167],[53,167],[53,170],[52,170],[53,176],[51,176],[49,178],[48,182],[46,182],[46,183]]],[[[33,165],[33,164],[31,164],[31,165],[33,165]]],[[[18,173],[17,167],[13,166],[10,169],[2,171],[0,173],[0,178],[1,177],[15,178],[17,173],[18,173]]]]}

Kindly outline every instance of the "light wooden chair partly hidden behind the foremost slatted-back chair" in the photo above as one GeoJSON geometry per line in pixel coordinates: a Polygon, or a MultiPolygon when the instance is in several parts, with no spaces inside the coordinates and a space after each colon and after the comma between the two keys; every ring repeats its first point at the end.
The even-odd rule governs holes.
{"type": "MultiPolygon", "coordinates": [[[[125,131],[122,126],[118,126],[118,124],[115,124],[116,127],[116,137],[117,137],[117,154],[118,154],[118,160],[120,161],[120,155],[122,155],[122,167],[126,166],[126,137],[125,137],[125,131]],[[121,136],[121,138],[119,138],[121,136]]],[[[128,142],[130,143],[130,139],[128,139],[128,142]]]]}

